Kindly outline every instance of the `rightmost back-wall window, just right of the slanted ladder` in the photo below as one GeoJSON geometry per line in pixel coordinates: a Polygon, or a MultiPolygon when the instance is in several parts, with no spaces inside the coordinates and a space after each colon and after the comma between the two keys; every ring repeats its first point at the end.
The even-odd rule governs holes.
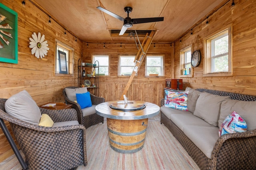
{"type": "Polygon", "coordinates": [[[164,56],[146,56],[146,76],[164,76],[164,56]]]}

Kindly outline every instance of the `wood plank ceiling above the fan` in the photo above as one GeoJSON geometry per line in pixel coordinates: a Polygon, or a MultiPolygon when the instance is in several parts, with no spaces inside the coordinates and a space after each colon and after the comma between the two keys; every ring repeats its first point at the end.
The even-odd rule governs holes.
{"type": "Polygon", "coordinates": [[[123,22],[98,10],[101,6],[118,16],[127,17],[124,7],[133,8],[130,18],[164,17],[164,21],[134,24],[128,30],[157,30],[153,42],[173,42],[193,25],[229,0],[30,0],[43,8],[52,20],[61,23],[85,42],[134,42],[112,36],[123,22]]]}

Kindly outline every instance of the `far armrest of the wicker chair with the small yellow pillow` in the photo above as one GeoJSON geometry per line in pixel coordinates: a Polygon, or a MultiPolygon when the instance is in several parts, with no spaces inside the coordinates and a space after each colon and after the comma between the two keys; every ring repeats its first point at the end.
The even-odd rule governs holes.
{"type": "Polygon", "coordinates": [[[40,111],[42,114],[49,115],[52,121],[54,122],[72,121],[72,120],[78,121],[77,113],[75,109],[51,110],[51,109],[44,109],[40,107],[40,111]]]}

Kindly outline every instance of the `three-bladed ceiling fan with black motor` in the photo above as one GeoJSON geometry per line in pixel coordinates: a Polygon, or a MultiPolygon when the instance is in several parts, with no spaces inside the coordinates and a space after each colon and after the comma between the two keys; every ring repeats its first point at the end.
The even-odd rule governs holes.
{"type": "Polygon", "coordinates": [[[108,15],[114,17],[114,18],[117,18],[118,20],[124,21],[124,25],[123,25],[119,35],[123,35],[125,33],[126,29],[132,27],[133,24],[164,21],[164,17],[134,18],[134,19],[132,19],[132,18],[129,17],[130,12],[132,12],[132,7],[130,7],[130,6],[124,7],[124,11],[127,13],[126,18],[122,18],[122,17],[114,14],[113,12],[110,12],[110,11],[106,10],[105,8],[102,8],[101,6],[98,6],[97,8],[99,10],[101,10],[102,12],[105,12],[106,14],[108,14],[108,15]]]}

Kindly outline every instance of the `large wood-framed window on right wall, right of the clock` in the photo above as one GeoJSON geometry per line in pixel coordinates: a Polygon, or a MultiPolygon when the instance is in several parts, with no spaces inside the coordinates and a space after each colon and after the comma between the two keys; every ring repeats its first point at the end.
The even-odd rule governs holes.
{"type": "Polygon", "coordinates": [[[231,27],[205,40],[204,76],[232,75],[231,27]]]}

